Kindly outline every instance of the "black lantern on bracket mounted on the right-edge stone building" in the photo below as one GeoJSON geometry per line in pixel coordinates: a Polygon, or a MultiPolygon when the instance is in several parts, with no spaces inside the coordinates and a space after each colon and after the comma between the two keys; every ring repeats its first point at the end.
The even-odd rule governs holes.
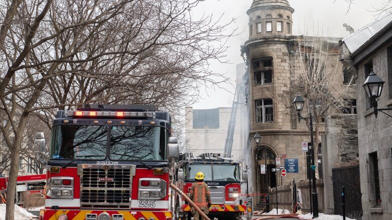
{"type": "MultiPolygon", "coordinates": [[[[376,118],[379,111],[386,114],[383,111],[392,110],[392,108],[381,108],[381,109],[377,108],[378,106],[377,101],[381,96],[382,86],[384,85],[384,83],[385,83],[384,81],[382,81],[377,75],[375,75],[373,70],[370,71],[369,76],[367,76],[365,82],[363,83],[363,88],[365,89],[366,95],[369,97],[370,101],[373,104],[374,115],[376,118]]],[[[392,117],[390,115],[388,116],[392,117]]]]}

